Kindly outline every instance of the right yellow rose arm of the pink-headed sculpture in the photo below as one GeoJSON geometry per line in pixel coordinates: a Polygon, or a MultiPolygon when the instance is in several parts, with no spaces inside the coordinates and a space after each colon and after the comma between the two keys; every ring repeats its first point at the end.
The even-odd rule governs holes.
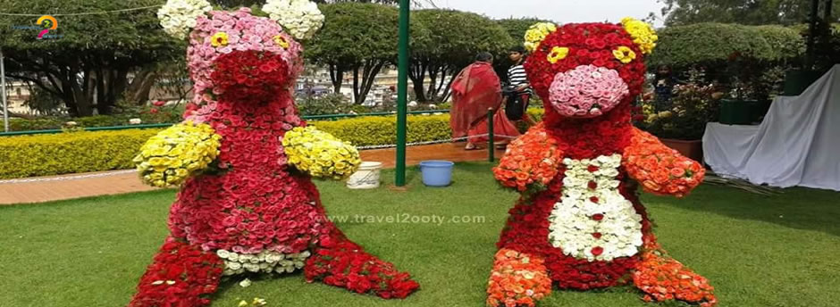
{"type": "Polygon", "coordinates": [[[282,140],[288,163],[315,178],[348,178],[362,163],[356,147],[315,127],[297,127],[282,140]]]}

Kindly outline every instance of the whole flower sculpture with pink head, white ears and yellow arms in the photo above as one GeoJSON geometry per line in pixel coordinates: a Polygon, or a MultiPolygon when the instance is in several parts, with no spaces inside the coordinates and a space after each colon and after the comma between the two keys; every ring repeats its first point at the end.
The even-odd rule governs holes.
{"type": "Polygon", "coordinates": [[[307,0],[269,0],[262,11],[269,17],[170,0],[158,12],[164,30],[189,34],[196,95],[185,122],[135,159],[148,184],[181,191],[172,234],[129,306],[202,306],[223,276],[300,269],[307,281],[383,298],[418,287],[327,220],[312,183],[347,178],[360,163],[355,147],[307,127],[292,100],[302,71],[295,38],[312,35],[323,15],[307,0]]]}

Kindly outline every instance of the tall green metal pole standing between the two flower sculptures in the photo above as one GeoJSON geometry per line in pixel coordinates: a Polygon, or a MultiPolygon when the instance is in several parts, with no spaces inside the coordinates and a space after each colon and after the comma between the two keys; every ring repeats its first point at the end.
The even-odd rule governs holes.
{"type": "Polygon", "coordinates": [[[408,100],[408,0],[399,0],[399,74],[397,75],[397,187],[406,185],[406,121],[408,100]]]}

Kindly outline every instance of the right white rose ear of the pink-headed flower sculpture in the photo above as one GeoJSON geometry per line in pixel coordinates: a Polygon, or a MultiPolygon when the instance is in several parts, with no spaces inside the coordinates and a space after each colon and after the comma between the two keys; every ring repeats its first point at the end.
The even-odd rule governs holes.
{"type": "Polygon", "coordinates": [[[315,36],[323,24],[323,14],[318,5],[309,0],[268,0],[262,10],[298,39],[315,36]]]}

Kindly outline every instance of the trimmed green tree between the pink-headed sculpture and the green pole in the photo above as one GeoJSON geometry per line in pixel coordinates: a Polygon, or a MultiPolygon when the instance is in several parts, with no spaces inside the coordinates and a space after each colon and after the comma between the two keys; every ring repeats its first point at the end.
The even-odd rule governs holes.
{"type": "Polygon", "coordinates": [[[307,42],[307,59],[330,70],[340,92],[344,74],[353,76],[353,98],[365,102],[382,67],[397,57],[398,12],[382,4],[322,4],[323,28],[307,42]]]}

